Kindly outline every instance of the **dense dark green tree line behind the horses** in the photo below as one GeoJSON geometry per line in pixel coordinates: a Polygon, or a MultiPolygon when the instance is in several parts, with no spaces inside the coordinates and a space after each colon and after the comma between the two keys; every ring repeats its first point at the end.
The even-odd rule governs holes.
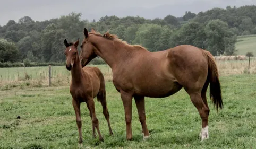
{"type": "Polygon", "coordinates": [[[0,26],[0,62],[63,63],[65,38],[83,39],[83,28],[110,33],[128,43],[140,44],[149,51],[161,51],[189,44],[210,51],[214,56],[234,55],[237,36],[256,34],[256,6],[213,8],[183,17],[167,15],[164,19],[140,16],[104,16],[99,21],[81,19],[70,13],[56,19],[33,21],[24,16],[0,26]]]}

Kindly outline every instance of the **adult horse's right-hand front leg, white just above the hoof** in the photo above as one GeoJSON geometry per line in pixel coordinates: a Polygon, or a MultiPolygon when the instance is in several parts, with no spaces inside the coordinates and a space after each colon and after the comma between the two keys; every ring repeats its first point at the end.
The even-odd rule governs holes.
{"type": "Polygon", "coordinates": [[[145,139],[149,137],[149,132],[146,124],[145,100],[144,100],[144,97],[136,97],[136,96],[134,96],[134,99],[135,99],[136,107],[138,110],[140,123],[142,126],[143,139],[145,139]]]}

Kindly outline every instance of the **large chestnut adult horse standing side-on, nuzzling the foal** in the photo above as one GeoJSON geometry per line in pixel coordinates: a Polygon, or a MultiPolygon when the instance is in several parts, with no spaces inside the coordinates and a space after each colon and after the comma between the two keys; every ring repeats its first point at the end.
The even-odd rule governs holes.
{"type": "Polygon", "coordinates": [[[202,119],[201,141],[209,138],[209,107],[206,91],[215,108],[223,108],[218,70],[210,52],[181,45],[164,51],[150,52],[132,46],[109,32],[101,35],[84,28],[80,54],[82,67],[100,56],[112,68],[113,83],[121,93],[125,110],[126,139],[132,139],[132,98],[134,97],[144,138],[149,137],[146,125],[144,97],[164,98],[184,87],[202,119]]]}

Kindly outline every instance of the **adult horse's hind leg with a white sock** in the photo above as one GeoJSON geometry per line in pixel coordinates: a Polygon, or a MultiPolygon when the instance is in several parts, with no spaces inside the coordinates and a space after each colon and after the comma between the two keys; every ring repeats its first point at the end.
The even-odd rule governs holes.
{"type": "Polygon", "coordinates": [[[198,109],[198,112],[200,114],[200,117],[202,119],[202,139],[208,139],[209,133],[208,133],[208,115],[209,115],[209,108],[204,104],[203,99],[201,97],[201,93],[189,93],[190,99],[194,106],[198,109]]]}

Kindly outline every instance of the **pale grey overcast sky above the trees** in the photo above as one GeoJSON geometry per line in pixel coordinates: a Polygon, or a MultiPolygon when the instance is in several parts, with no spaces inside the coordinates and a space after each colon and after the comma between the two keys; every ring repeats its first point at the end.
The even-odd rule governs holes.
{"type": "Polygon", "coordinates": [[[0,0],[0,25],[30,16],[35,21],[49,20],[70,12],[82,13],[83,19],[98,20],[105,15],[163,18],[168,14],[183,16],[185,11],[198,13],[227,5],[256,5],[256,0],[0,0]]]}

